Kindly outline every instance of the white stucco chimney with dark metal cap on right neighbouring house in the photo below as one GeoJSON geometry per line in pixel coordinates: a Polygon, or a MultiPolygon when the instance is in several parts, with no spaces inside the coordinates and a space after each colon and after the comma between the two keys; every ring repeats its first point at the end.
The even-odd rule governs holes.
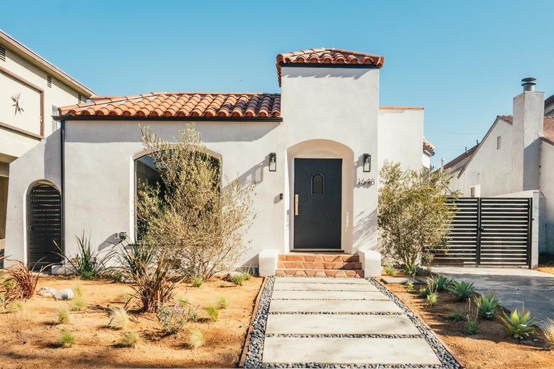
{"type": "Polygon", "coordinates": [[[543,136],[544,92],[536,92],[537,79],[521,79],[523,92],[514,97],[512,119],[512,192],[538,189],[543,136]]]}

